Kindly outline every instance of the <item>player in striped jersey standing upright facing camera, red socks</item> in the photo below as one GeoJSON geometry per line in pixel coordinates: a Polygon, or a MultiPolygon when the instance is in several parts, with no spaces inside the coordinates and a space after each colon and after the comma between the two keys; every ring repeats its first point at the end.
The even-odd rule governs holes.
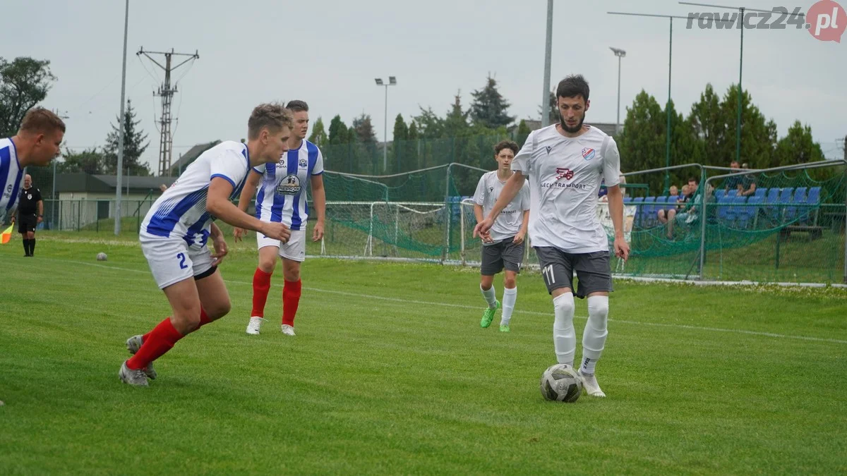
{"type": "MultiPolygon", "coordinates": [[[[266,222],[284,223],[291,228],[291,239],[280,243],[271,237],[256,234],[259,263],[253,273],[253,309],[247,322],[247,334],[257,335],[264,321],[265,302],[270,291],[270,277],[274,274],[277,256],[282,259],[282,325],[285,335],[295,335],[294,318],[300,305],[302,281],[300,263],[306,259],[306,225],[308,205],[306,184],[312,185],[315,205],[315,224],[312,241],[324,237],[324,157],[318,146],[306,140],[309,130],[309,107],[303,101],[290,101],[285,106],[294,119],[294,130],[288,141],[288,153],[279,163],[268,163],[252,169],[238,207],[246,211],[256,191],[256,218],[266,222]],[[261,184],[261,185],[260,185],[261,184]]],[[[235,229],[235,241],[241,240],[244,230],[235,229]]]]}

